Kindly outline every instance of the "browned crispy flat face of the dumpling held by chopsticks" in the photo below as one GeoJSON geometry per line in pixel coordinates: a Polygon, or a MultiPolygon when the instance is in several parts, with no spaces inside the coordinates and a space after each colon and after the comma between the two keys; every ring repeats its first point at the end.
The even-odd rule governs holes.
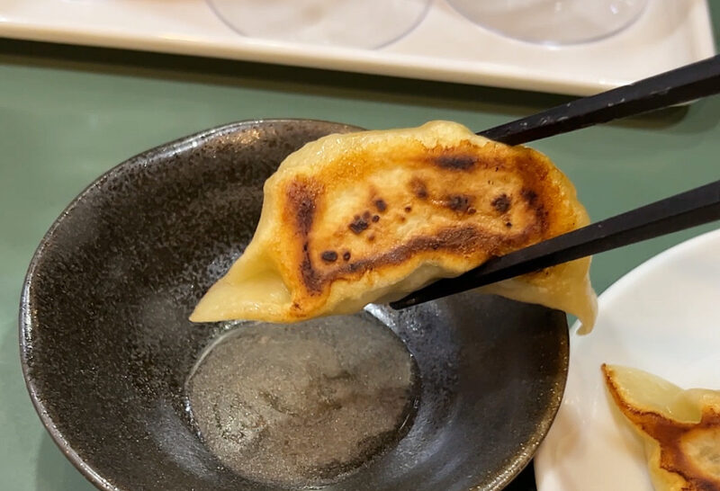
{"type": "Polygon", "coordinates": [[[338,159],[281,183],[284,223],[293,224],[281,254],[284,264],[299,265],[284,274],[299,316],[337,281],[441,257],[469,269],[576,228],[564,178],[526,147],[408,141],[338,159]],[[413,227],[403,228],[410,221],[413,227]]]}

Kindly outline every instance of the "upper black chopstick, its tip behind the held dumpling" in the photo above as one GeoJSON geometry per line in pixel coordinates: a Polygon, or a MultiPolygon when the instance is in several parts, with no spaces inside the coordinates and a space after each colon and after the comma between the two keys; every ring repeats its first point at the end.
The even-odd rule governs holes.
{"type": "Polygon", "coordinates": [[[720,55],[478,133],[519,145],[720,93],[720,55]]]}

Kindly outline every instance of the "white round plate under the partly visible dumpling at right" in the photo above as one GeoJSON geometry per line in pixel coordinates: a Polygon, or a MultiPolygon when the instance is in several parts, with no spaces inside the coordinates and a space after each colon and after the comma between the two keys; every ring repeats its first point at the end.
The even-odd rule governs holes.
{"type": "Polygon", "coordinates": [[[603,362],[720,388],[720,229],[629,272],[600,296],[590,335],[572,333],[563,404],[536,455],[539,491],[653,491],[642,444],[610,412],[603,362]]]}

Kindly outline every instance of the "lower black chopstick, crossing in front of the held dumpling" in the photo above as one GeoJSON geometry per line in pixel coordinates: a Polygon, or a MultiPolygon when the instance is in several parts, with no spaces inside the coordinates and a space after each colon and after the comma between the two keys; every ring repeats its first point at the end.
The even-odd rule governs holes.
{"type": "Polygon", "coordinates": [[[491,259],[456,278],[436,281],[390,305],[392,308],[410,307],[718,219],[720,181],[491,259]]]}

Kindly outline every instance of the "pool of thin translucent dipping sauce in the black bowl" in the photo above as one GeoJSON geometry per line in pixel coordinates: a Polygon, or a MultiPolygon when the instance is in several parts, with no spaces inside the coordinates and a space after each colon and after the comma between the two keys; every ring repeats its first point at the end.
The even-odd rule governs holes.
{"type": "Polygon", "coordinates": [[[415,361],[370,316],[250,323],[198,362],[187,397],[203,442],[240,476],[284,487],[335,482],[410,428],[415,361]]]}

